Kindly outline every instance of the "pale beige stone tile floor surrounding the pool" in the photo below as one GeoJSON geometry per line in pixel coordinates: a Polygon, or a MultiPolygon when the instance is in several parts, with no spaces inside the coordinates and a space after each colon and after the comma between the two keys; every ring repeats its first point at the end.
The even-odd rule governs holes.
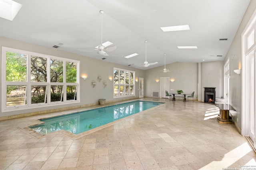
{"type": "Polygon", "coordinates": [[[234,124],[216,121],[214,105],[143,100],[166,103],[77,140],[60,133],[35,139],[17,128],[47,114],[0,121],[0,169],[223,170],[256,165],[255,152],[234,124]]]}

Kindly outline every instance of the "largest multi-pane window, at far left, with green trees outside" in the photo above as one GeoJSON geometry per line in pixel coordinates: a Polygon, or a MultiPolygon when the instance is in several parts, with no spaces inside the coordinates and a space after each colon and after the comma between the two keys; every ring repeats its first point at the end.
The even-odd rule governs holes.
{"type": "Polygon", "coordinates": [[[2,112],[79,102],[79,61],[2,47],[2,112]]]}

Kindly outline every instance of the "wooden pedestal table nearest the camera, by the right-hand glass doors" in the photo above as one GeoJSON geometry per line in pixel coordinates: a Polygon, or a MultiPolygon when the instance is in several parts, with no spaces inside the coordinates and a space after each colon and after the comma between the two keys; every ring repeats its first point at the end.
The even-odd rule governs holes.
{"type": "Polygon", "coordinates": [[[229,104],[215,104],[215,106],[220,108],[220,115],[217,118],[219,123],[233,123],[231,117],[229,116],[229,110],[235,110],[229,104]]]}

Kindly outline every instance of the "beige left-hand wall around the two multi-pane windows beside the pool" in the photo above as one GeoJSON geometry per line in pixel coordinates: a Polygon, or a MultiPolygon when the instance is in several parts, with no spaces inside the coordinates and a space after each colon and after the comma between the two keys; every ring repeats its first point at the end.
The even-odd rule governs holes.
{"type": "MultiPolygon", "coordinates": [[[[39,45],[34,45],[22,41],[16,41],[13,39],[8,39],[4,37],[0,37],[0,55],[2,55],[2,46],[4,47],[10,47],[14,49],[21,49],[24,51],[31,51],[35,53],[41,53],[46,55],[53,55],[56,57],[63,57],[68,59],[74,59],[79,60],[81,67],[80,67],[80,74],[87,74],[88,78],[86,80],[83,80],[80,78],[80,104],[67,104],[62,106],[50,106],[50,107],[42,107],[38,109],[27,109],[27,110],[21,110],[21,111],[11,111],[11,112],[4,112],[0,114],[0,117],[4,116],[10,116],[10,115],[17,115],[22,113],[30,113],[30,112],[36,112],[36,111],[45,111],[49,109],[59,109],[62,107],[71,107],[71,106],[83,106],[87,104],[96,104],[98,103],[98,99],[105,98],[106,102],[108,101],[115,101],[115,100],[122,100],[122,99],[129,99],[134,97],[127,97],[127,98],[118,98],[114,99],[113,97],[113,81],[110,82],[109,76],[113,76],[113,68],[123,68],[126,70],[132,70],[135,71],[136,78],[138,77],[144,77],[144,70],[132,68],[129,66],[119,65],[107,62],[107,59],[103,61],[102,59],[92,59],[90,57],[82,56],[82,55],[75,55],[71,53],[67,53],[64,51],[60,51],[58,49],[54,48],[48,48],[48,47],[42,47],[39,45]],[[98,75],[102,76],[102,81],[106,80],[107,86],[106,88],[103,87],[102,81],[98,82],[97,77],[98,75]],[[91,81],[96,81],[96,87],[91,87],[91,81]]],[[[2,58],[2,56],[1,56],[2,58]]],[[[100,57],[99,57],[100,58],[100,57]]],[[[108,57],[106,57],[108,58],[108,57]]],[[[2,60],[0,60],[0,64],[2,64],[2,60]]],[[[0,74],[0,76],[2,73],[0,74]]],[[[80,75],[80,76],[81,76],[80,75]]],[[[1,77],[2,78],[2,77],[1,77]]],[[[2,88],[2,84],[0,84],[2,88]]],[[[139,91],[138,91],[139,83],[135,83],[135,94],[136,98],[139,97],[139,91]]],[[[0,92],[1,94],[2,92],[0,92]]],[[[6,94],[1,94],[6,95],[6,94]]],[[[2,102],[2,101],[1,101],[2,102]]]]}

